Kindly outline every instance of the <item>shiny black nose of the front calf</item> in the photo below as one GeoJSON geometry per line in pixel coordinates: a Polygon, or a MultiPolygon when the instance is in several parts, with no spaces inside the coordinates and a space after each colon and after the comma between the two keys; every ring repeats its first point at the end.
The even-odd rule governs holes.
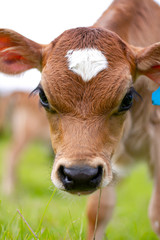
{"type": "Polygon", "coordinates": [[[74,166],[66,168],[60,166],[59,178],[65,189],[71,192],[94,191],[102,180],[102,167],[74,166]]]}

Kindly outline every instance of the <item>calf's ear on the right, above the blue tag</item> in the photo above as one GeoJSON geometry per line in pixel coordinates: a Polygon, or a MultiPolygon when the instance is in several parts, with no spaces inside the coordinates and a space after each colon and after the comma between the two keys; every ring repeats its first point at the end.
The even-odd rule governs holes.
{"type": "Polygon", "coordinates": [[[136,49],[138,75],[145,75],[160,85],[160,43],[136,49]]]}

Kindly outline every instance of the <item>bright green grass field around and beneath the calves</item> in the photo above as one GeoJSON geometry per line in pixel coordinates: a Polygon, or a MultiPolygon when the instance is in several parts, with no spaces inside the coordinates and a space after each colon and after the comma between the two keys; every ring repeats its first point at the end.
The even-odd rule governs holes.
{"type": "MultiPolygon", "coordinates": [[[[8,136],[1,136],[0,164],[8,143],[8,136]]],[[[87,198],[54,192],[50,181],[51,168],[51,157],[48,157],[48,152],[41,143],[34,143],[24,151],[17,171],[15,193],[10,197],[4,197],[0,192],[1,240],[36,239],[17,209],[38,239],[86,239],[87,198]]],[[[0,176],[2,176],[2,167],[0,176]]],[[[146,165],[141,163],[117,186],[117,205],[112,221],[106,229],[105,239],[158,239],[150,227],[147,215],[151,189],[152,182],[146,165]]]]}

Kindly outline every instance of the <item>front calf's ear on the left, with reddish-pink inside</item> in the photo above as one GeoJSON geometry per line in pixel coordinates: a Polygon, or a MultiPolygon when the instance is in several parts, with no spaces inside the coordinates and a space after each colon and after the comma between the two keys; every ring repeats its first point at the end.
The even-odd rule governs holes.
{"type": "Polygon", "coordinates": [[[42,46],[8,29],[0,29],[0,72],[22,73],[41,70],[42,46]]]}

